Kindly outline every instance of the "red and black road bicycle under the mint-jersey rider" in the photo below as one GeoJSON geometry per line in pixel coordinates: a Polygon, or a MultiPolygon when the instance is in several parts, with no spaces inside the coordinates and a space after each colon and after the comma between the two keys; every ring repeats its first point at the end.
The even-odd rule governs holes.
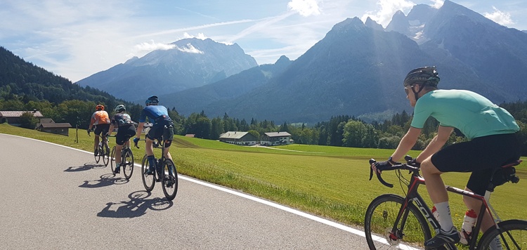
{"type": "MultiPolygon", "coordinates": [[[[394,164],[386,169],[381,169],[382,171],[395,170],[401,187],[403,184],[408,186],[408,191],[405,192],[405,197],[392,194],[380,195],[373,199],[368,206],[364,219],[364,229],[370,249],[423,249],[424,242],[431,239],[432,232],[437,233],[439,231],[438,221],[417,192],[419,185],[424,185],[424,178],[419,176],[419,166],[410,156],[406,156],[405,160],[407,163],[394,164]],[[412,174],[410,180],[401,174],[401,170],[407,170],[412,174]]],[[[375,159],[370,159],[370,180],[373,176],[371,164],[374,162],[375,159]]],[[[498,247],[497,249],[527,249],[527,221],[516,219],[501,221],[493,206],[488,202],[494,187],[509,181],[518,183],[519,177],[515,174],[514,166],[520,163],[521,160],[517,160],[495,169],[485,196],[445,185],[448,192],[481,201],[481,209],[471,233],[472,237],[467,239],[469,249],[491,249],[491,242],[498,239],[501,248],[498,247]],[[485,211],[491,214],[495,225],[483,233],[478,240],[481,220],[485,211]]],[[[377,173],[377,178],[387,187],[393,187],[393,184],[386,183],[382,179],[380,173],[377,173]]],[[[438,249],[457,249],[457,247],[455,244],[448,244],[438,249]]]]}

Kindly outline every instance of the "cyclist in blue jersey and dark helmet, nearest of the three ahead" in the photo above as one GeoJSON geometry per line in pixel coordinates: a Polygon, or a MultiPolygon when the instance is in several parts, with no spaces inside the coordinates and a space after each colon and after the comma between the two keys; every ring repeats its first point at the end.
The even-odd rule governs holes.
{"type": "Polygon", "coordinates": [[[152,128],[150,128],[150,131],[148,131],[148,134],[146,135],[145,150],[148,163],[150,165],[150,168],[147,171],[148,174],[154,173],[155,166],[157,164],[155,162],[154,149],[152,146],[154,140],[164,140],[164,147],[166,148],[164,150],[164,157],[172,159],[169,152],[169,147],[172,143],[172,139],[174,138],[174,122],[169,117],[169,111],[167,110],[167,107],[158,104],[159,99],[157,96],[150,96],[145,101],[146,107],[143,109],[143,112],[141,112],[141,117],[139,117],[137,135],[136,138],[134,138],[134,143],[137,145],[139,138],[141,138],[143,126],[145,125],[145,121],[148,117],[148,121],[152,122],[153,124],[152,128]]]}

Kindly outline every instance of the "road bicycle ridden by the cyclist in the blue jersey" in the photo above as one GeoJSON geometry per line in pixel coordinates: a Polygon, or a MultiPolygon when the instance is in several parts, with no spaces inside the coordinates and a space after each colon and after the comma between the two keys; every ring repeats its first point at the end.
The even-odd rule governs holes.
{"type": "MultiPolygon", "coordinates": [[[[164,141],[161,140],[159,143],[154,143],[154,148],[161,149],[161,157],[155,158],[157,163],[157,169],[154,173],[148,174],[147,171],[150,168],[150,162],[148,161],[147,155],[143,157],[141,162],[141,178],[143,179],[143,185],[147,192],[151,192],[154,189],[155,183],[162,183],[164,196],[169,200],[173,200],[178,192],[178,172],[176,171],[176,164],[171,159],[164,157],[164,141]]],[[[155,154],[154,154],[155,156],[155,154]]]]}

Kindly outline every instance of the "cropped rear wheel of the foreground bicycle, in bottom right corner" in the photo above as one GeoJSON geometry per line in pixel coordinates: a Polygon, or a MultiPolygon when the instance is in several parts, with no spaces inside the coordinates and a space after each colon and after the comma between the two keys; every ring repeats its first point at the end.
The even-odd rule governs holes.
{"type": "Polygon", "coordinates": [[[527,249],[527,221],[509,220],[497,225],[500,230],[494,226],[481,236],[478,249],[527,249]]]}

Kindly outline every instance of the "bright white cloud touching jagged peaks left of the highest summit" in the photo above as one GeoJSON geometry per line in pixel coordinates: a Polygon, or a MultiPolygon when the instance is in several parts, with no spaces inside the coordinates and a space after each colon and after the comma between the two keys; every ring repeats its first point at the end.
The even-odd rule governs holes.
{"type": "Polygon", "coordinates": [[[415,6],[412,1],[407,0],[379,0],[377,1],[377,5],[380,6],[380,9],[377,11],[377,13],[366,13],[360,19],[364,22],[367,17],[370,17],[375,22],[381,24],[383,27],[386,27],[391,21],[393,14],[395,14],[397,11],[403,11],[404,13],[408,14],[408,11],[410,11],[412,7],[415,6]]]}

